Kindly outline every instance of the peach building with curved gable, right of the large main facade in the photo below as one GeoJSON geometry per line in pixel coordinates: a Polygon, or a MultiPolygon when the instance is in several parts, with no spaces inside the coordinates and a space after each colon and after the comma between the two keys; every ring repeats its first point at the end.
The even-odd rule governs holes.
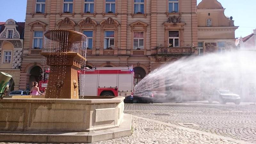
{"type": "Polygon", "coordinates": [[[232,51],[235,48],[233,17],[226,17],[217,0],[202,0],[197,6],[198,54],[232,51]]]}

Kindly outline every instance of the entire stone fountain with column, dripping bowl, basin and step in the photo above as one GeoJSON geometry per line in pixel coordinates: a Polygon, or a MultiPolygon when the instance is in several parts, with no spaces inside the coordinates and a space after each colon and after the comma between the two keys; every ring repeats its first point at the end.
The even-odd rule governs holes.
{"type": "Polygon", "coordinates": [[[86,36],[60,29],[44,36],[41,54],[51,67],[45,98],[0,100],[0,141],[91,143],[131,135],[124,97],[78,99],[77,70],[85,65],[86,36]]]}

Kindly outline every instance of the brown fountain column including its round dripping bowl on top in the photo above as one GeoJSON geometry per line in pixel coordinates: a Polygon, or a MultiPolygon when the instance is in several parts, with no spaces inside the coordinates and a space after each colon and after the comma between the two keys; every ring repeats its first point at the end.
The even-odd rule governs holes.
{"type": "MultiPolygon", "coordinates": [[[[84,52],[86,36],[61,29],[46,31],[44,36],[52,42],[41,53],[47,59],[46,64],[51,67],[45,98],[78,99],[77,70],[86,61],[78,52],[84,52]]],[[[49,43],[47,40],[45,43],[49,43]]]]}

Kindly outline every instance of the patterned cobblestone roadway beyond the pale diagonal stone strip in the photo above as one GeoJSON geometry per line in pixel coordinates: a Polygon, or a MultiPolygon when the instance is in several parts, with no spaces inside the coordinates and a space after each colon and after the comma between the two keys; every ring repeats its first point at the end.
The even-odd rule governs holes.
{"type": "Polygon", "coordinates": [[[126,104],[125,113],[256,143],[256,106],[202,103],[126,104]]]}

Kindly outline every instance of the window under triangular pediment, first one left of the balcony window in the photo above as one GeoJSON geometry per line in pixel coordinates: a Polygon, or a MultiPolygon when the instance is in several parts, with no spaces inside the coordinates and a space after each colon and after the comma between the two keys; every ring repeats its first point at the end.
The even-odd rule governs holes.
{"type": "Polygon", "coordinates": [[[143,48],[144,48],[144,32],[143,31],[133,32],[133,49],[142,50],[143,48]]]}

